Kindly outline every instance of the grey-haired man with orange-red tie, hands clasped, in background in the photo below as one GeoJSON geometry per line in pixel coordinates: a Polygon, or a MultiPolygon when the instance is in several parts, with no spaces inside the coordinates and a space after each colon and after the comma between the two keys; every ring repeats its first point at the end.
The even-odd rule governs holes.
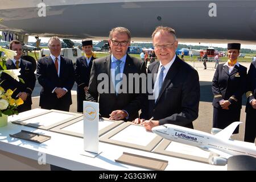
{"type": "Polygon", "coordinates": [[[75,71],[70,59],[60,56],[61,42],[56,36],[49,39],[50,56],[38,60],[36,75],[42,85],[39,106],[42,109],[69,111],[75,71]]]}

